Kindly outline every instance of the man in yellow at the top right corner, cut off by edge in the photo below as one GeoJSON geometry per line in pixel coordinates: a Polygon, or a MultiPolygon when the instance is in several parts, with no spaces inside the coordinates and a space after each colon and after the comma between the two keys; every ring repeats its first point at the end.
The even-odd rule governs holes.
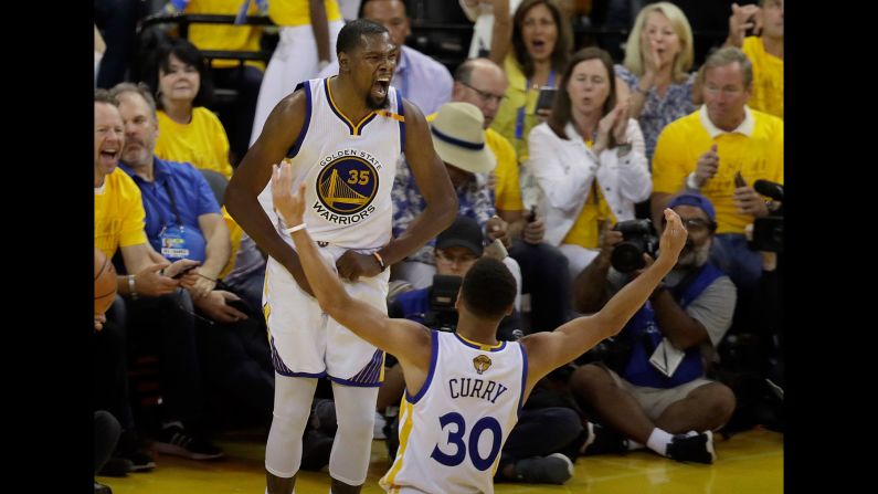
{"type": "Polygon", "coordinates": [[[732,4],[726,45],[742,49],[753,64],[750,107],[783,118],[783,0],[732,4]],[[744,38],[748,29],[760,25],[760,35],[744,38]]]}

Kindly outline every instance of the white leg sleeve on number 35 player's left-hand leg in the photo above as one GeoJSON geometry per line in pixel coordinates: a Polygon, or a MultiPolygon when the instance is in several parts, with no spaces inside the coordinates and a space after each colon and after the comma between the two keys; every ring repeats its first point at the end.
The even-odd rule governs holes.
{"type": "Polygon", "coordinates": [[[289,479],[302,463],[302,434],[308,423],[316,379],[275,374],[274,419],[265,444],[265,470],[289,479]]]}

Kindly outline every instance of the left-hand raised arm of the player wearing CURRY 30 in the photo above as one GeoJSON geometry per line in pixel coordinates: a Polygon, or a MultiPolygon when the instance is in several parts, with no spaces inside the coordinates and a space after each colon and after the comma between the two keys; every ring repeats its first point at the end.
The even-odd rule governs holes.
{"type": "MultiPolygon", "coordinates": [[[[305,183],[292,192],[293,171],[289,164],[275,167],[272,177],[272,199],[277,213],[290,227],[302,224],[305,210],[305,183]]],[[[432,343],[430,330],[408,319],[391,319],[366,302],[348,295],[339,277],[317,251],[308,231],[292,233],[302,266],[308,277],[320,308],[336,322],[370,344],[393,354],[403,364],[414,364],[425,370],[430,366],[432,343]]]]}

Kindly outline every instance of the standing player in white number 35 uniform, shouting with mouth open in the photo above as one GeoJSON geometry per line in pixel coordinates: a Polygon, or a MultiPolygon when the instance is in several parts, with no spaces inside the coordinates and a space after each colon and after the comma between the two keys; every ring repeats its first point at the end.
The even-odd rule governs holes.
{"type": "Polygon", "coordinates": [[[272,165],[286,159],[306,185],[305,219],[320,252],[343,280],[336,285],[387,311],[387,266],[447,228],[457,200],[416,106],[390,86],[396,49],[388,31],[356,20],[339,32],[339,75],[305,81],[268,116],[232,177],[229,212],[268,253],[263,312],[275,367],[275,404],[265,451],[269,494],[289,494],[317,378],[332,381],[338,432],[329,460],[331,493],[358,493],[369,466],[383,351],[322,313],[272,208],[272,165]],[[421,218],[392,239],[390,191],[404,151],[427,201],[421,218]],[[258,197],[258,198],[257,198],[258,197]],[[429,218],[429,220],[426,220],[429,218]]]}

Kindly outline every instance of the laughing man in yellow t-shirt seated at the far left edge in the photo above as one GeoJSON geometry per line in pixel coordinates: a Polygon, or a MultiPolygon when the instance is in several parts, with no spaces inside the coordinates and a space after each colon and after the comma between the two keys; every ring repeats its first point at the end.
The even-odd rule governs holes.
{"type": "MultiPolygon", "coordinates": [[[[113,360],[114,353],[125,355],[129,348],[136,353],[138,345],[158,348],[162,367],[167,370],[161,378],[162,395],[172,422],[156,432],[157,446],[173,446],[176,451],[171,454],[191,459],[220,458],[224,454],[222,450],[198,432],[203,420],[202,389],[194,320],[184,308],[191,307],[192,302],[187,291],[179,290],[194,284],[195,274],[183,275],[183,272],[198,265],[198,262],[182,259],[171,264],[147,241],[140,191],[134,180],[118,169],[124,136],[118,101],[106,90],[95,91],[95,246],[109,259],[116,250],[120,250],[125,270],[134,273],[117,275],[116,283],[117,293],[124,297],[125,311],[129,315],[124,329],[126,346],[119,348],[118,344],[109,344],[119,338],[117,333],[121,325],[117,314],[110,309],[106,315],[107,325],[103,325],[101,333],[95,335],[96,369],[113,360]],[[154,339],[154,343],[146,343],[147,339],[154,339]],[[160,343],[155,344],[155,340],[160,343]],[[172,439],[169,434],[176,435],[172,439]]],[[[119,303],[118,298],[116,303],[119,303]]],[[[95,328],[97,322],[95,316],[95,328]]],[[[124,362],[112,365],[112,368],[114,377],[123,379],[117,382],[124,382],[124,362]]],[[[123,435],[128,434],[129,440],[126,442],[136,444],[139,441],[134,433],[130,411],[124,404],[116,408],[119,399],[123,403],[127,402],[127,390],[116,385],[102,386],[105,379],[99,374],[95,376],[96,403],[110,403],[108,411],[125,429],[123,435]]],[[[121,445],[119,448],[114,455],[131,460],[133,469],[149,470],[156,466],[152,459],[137,446],[134,446],[134,451],[123,451],[121,445]]]]}

